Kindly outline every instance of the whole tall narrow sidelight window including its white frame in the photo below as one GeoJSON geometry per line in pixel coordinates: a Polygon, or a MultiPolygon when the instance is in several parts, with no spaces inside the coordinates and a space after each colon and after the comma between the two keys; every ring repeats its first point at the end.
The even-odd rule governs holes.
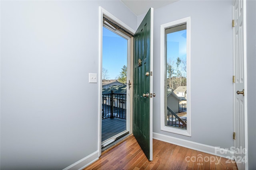
{"type": "Polygon", "coordinates": [[[161,25],[161,130],[191,136],[190,18],[161,25]]]}

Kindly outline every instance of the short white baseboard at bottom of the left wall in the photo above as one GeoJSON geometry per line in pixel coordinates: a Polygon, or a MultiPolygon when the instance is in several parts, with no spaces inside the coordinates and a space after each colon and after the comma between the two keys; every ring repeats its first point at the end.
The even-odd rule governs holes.
{"type": "Polygon", "coordinates": [[[92,164],[93,162],[95,162],[96,160],[99,159],[99,152],[93,152],[92,154],[86,156],[85,158],[82,158],[81,160],[78,160],[77,162],[75,162],[74,164],[66,167],[63,170],[82,170],[84,169],[86,166],[89,166],[90,164],[92,164]]]}

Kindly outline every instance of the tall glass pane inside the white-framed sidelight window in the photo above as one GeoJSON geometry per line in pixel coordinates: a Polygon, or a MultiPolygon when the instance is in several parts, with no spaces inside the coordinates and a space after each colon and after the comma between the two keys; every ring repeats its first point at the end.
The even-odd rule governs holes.
{"type": "Polygon", "coordinates": [[[186,24],[165,29],[166,119],[165,125],[186,130],[186,24]]]}

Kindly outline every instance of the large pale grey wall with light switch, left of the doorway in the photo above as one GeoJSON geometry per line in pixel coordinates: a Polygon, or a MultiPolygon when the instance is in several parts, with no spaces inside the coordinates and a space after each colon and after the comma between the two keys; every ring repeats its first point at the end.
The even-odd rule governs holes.
{"type": "Polygon", "coordinates": [[[120,1],[1,1],[1,169],[63,169],[98,150],[99,6],[136,29],[120,1]]]}

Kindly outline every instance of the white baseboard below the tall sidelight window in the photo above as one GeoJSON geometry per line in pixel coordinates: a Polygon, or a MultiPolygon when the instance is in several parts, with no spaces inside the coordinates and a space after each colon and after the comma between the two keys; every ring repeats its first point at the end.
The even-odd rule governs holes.
{"type": "Polygon", "coordinates": [[[234,152],[232,150],[222,149],[220,147],[213,147],[210,145],[204,145],[202,143],[187,141],[187,140],[176,138],[176,137],[170,137],[167,135],[162,135],[160,133],[153,133],[153,139],[171,143],[181,147],[193,149],[193,150],[198,150],[200,152],[205,152],[205,153],[212,154],[215,156],[220,156],[223,158],[230,159],[232,158],[232,156],[234,156],[234,152]]]}

